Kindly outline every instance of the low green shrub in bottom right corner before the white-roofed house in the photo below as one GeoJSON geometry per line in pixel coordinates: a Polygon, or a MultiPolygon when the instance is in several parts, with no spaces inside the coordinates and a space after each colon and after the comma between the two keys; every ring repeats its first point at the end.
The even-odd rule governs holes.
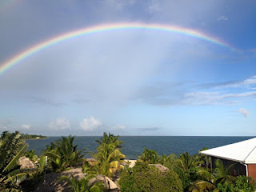
{"type": "Polygon", "coordinates": [[[254,192],[255,182],[246,176],[238,176],[234,183],[218,183],[218,192],[254,192]],[[250,181],[250,182],[248,182],[250,181]]]}

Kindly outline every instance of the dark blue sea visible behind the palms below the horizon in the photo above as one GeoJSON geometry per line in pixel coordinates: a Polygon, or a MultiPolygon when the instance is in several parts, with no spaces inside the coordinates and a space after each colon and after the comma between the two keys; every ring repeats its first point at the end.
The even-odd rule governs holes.
{"type": "MultiPolygon", "coordinates": [[[[61,137],[48,137],[40,140],[26,140],[29,144],[28,150],[36,150],[37,154],[41,154],[46,145],[55,142],[61,137]]],[[[96,151],[99,140],[98,136],[77,136],[74,144],[78,145],[78,149],[86,148],[86,151],[96,151]]],[[[254,137],[205,137],[205,136],[122,136],[120,140],[122,144],[122,153],[126,154],[127,159],[137,159],[138,154],[142,154],[143,148],[158,151],[162,154],[182,154],[186,151],[189,154],[197,154],[198,150],[203,147],[214,148],[224,146],[234,142],[241,142],[254,137]]],[[[90,158],[90,154],[86,155],[90,158]]]]}

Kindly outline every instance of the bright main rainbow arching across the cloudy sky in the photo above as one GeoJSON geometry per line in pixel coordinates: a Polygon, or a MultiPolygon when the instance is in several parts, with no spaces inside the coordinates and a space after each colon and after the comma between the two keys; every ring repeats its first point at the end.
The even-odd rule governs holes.
{"type": "Polygon", "coordinates": [[[222,42],[218,38],[214,38],[210,35],[203,34],[198,30],[191,30],[191,29],[183,28],[181,26],[169,26],[169,25],[162,25],[162,24],[145,24],[145,23],[134,23],[134,22],[112,23],[112,24],[105,24],[105,25],[98,25],[98,26],[90,26],[83,29],[74,30],[65,34],[58,35],[57,37],[47,39],[46,41],[40,42],[35,46],[31,46],[30,48],[23,50],[21,53],[15,54],[12,58],[4,62],[0,66],[0,74],[3,74],[6,70],[22,62],[24,59],[30,57],[32,54],[36,54],[41,50],[45,50],[50,46],[54,46],[59,42],[66,41],[71,38],[78,38],[83,35],[96,34],[96,33],[102,33],[102,32],[113,31],[113,30],[138,30],[138,29],[158,30],[158,31],[165,31],[165,32],[173,32],[177,34],[184,34],[194,38],[205,40],[206,42],[214,43],[218,46],[226,47],[230,50],[234,50],[231,46],[229,46],[225,42],[222,42]]]}

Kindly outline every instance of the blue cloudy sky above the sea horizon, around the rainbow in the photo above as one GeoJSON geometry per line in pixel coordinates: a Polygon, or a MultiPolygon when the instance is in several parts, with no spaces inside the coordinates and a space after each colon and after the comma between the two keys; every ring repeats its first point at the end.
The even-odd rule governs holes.
{"type": "Polygon", "coordinates": [[[256,3],[220,0],[2,0],[0,69],[50,38],[142,23],[47,46],[0,72],[0,132],[256,135],[256,3]]]}

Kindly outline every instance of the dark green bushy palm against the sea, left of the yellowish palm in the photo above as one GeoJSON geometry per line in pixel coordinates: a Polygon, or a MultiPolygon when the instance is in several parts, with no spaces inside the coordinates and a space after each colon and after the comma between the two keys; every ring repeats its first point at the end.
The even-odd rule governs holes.
{"type": "Polygon", "coordinates": [[[83,161],[86,149],[78,150],[77,147],[74,146],[74,137],[62,137],[57,142],[51,142],[50,146],[47,145],[43,154],[48,156],[51,169],[60,172],[83,161]]]}

